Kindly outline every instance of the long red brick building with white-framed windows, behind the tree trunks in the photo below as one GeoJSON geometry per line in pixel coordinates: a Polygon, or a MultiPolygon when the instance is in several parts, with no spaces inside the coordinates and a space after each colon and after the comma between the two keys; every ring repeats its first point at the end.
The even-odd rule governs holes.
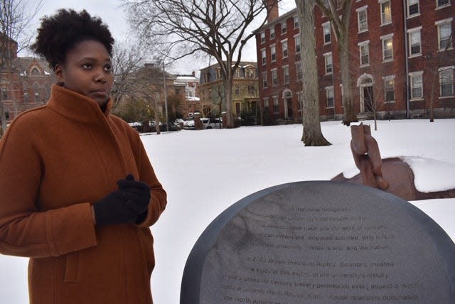
{"type": "MultiPolygon", "coordinates": [[[[350,16],[355,112],[380,118],[455,116],[453,0],[358,0],[350,16]]],[[[272,122],[301,121],[296,10],[257,29],[260,99],[272,122]]],[[[315,9],[321,119],[341,119],[341,72],[331,24],[315,9]]]]}

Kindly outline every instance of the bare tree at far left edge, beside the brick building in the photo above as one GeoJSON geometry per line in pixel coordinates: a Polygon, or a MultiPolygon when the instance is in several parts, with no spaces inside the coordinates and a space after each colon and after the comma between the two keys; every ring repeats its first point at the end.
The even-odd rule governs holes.
{"type": "MultiPolygon", "coordinates": [[[[17,56],[16,52],[30,45],[32,35],[27,31],[42,3],[43,1],[40,0],[36,6],[31,6],[25,0],[0,0],[0,71],[5,72],[11,93],[13,92],[13,60],[17,56]]],[[[12,96],[12,98],[15,97],[12,96]]],[[[4,131],[6,115],[2,99],[3,92],[0,94],[0,119],[1,129],[4,131]]]]}

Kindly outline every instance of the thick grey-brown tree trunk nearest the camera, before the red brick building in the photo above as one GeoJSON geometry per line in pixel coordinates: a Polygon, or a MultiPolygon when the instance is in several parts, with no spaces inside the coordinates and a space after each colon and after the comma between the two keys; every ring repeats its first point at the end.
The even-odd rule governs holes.
{"type": "Polygon", "coordinates": [[[303,67],[303,135],[305,146],[328,146],[321,131],[319,119],[319,84],[316,63],[316,37],[314,36],[314,2],[296,0],[302,41],[301,62],[303,67]]]}

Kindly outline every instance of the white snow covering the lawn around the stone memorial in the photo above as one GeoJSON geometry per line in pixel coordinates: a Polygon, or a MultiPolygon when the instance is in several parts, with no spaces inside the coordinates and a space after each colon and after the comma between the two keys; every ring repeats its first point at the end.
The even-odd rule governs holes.
{"type": "MultiPolygon", "coordinates": [[[[373,121],[364,124],[372,126],[382,158],[418,156],[407,159],[416,168],[420,191],[455,188],[455,119],[378,121],[378,131],[373,130],[373,121]]],[[[220,212],[242,197],[273,185],[330,180],[356,170],[349,148],[350,129],[340,121],[321,126],[332,146],[305,147],[299,124],[141,136],[168,192],[166,211],[151,227],[155,303],[179,302],[183,267],[193,244],[220,212]]],[[[455,199],[412,203],[455,240],[455,199]]],[[[27,259],[0,256],[1,303],[28,303],[26,268],[27,259]]]]}

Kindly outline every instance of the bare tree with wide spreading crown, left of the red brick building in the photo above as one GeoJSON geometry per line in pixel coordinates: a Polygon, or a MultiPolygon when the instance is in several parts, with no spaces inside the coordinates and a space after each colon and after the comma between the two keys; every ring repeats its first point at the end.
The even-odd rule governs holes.
{"type": "Polygon", "coordinates": [[[240,64],[242,50],[255,33],[257,18],[262,24],[279,0],[124,0],[129,22],[143,40],[161,47],[172,60],[202,53],[220,65],[225,89],[227,126],[233,126],[232,80],[240,64]],[[255,21],[253,23],[253,21],[255,21]],[[171,50],[171,51],[170,51],[171,50]],[[171,52],[171,53],[170,53],[171,52]]]}

